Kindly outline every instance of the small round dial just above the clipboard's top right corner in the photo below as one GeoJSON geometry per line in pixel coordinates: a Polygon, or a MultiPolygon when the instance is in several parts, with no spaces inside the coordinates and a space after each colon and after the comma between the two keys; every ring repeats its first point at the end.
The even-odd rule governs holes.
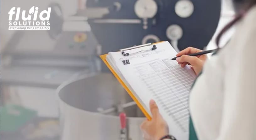
{"type": "Polygon", "coordinates": [[[170,25],[167,29],[166,29],[166,36],[172,40],[172,41],[177,41],[179,39],[181,39],[183,35],[183,30],[182,28],[177,25],[177,24],[173,24],[170,25]]]}

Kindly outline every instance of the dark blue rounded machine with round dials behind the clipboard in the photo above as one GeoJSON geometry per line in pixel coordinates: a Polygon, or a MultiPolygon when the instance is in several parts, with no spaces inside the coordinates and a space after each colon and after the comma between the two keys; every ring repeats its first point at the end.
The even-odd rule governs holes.
{"type": "Polygon", "coordinates": [[[101,13],[88,21],[102,53],[158,41],[170,41],[178,51],[207,46],[219,22],[221,1],[87,0],[86,7],[101,13]]]}

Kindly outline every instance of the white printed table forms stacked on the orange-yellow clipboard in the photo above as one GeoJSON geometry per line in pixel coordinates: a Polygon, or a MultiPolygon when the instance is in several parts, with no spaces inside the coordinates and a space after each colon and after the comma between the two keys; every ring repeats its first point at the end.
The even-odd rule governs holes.
{"type": "Polygon", "coordinates": [[[189,66],[181,68],[171,60],[177,52],[169,42],[156,44],[153,51],[151,47],[125,51],[131,54],[127,57],[121,52],[110,52],[107,61],[149,114],[149,101],[154,99],[170,134],[188,140],[188,97],[195,74],[189,66]],[[127,59],[130,64],[124,65],[122,60],[127,59]]]}

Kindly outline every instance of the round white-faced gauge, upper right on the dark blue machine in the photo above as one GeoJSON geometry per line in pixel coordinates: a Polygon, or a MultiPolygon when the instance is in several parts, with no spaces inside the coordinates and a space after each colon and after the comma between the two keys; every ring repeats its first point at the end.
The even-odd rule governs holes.
{"type": "Polygon", "coordinates": [[[179,0],[175,4],[175,12],[179,17],[190,17],[194,12],[194,5],[190,0],[179,0]]]}

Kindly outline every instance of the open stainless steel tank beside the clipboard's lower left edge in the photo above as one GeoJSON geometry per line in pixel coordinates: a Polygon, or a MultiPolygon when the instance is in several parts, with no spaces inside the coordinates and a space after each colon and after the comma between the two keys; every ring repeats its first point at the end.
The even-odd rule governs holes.
{"type": "MultiPolygon", "coordinates": [[[[63,83],[57,89],[57,96],[62,140],[120,139],[119,107],[131,104],[132,99],[112,74],[63,83]],[[102,114],[102,110],[108,113],[102,114]]],[[[144,115],[136,105],[127,106],[123,108],[127,116],[127,139],[142,140],[139,125],[144,115]]]]}

